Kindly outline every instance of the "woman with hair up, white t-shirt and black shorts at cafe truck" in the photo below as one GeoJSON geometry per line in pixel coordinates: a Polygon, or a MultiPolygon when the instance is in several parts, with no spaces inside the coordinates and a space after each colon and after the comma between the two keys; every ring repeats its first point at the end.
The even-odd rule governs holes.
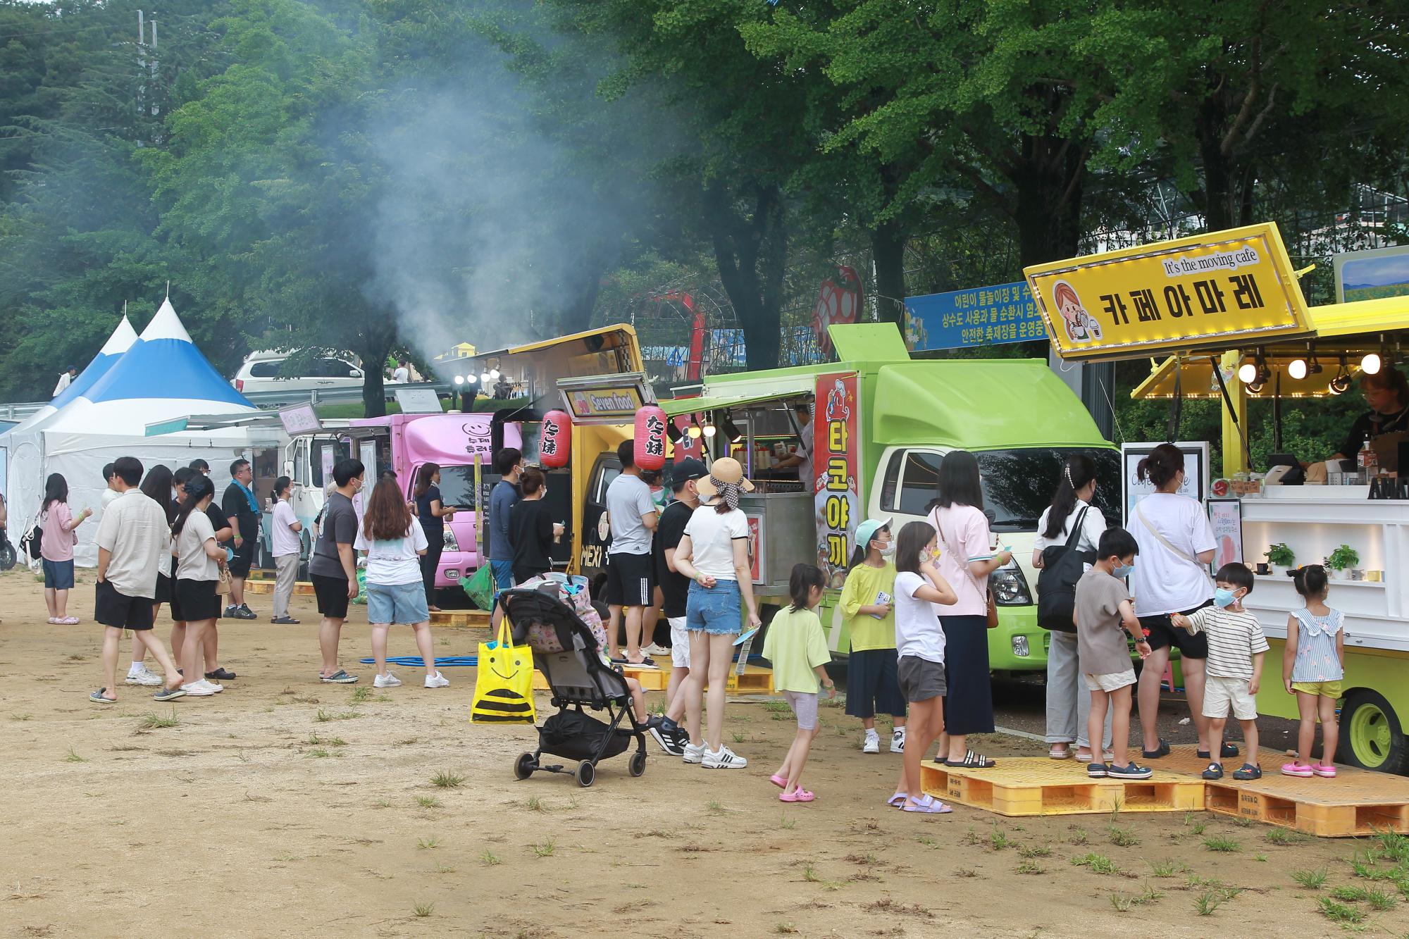
{"type": "MultiPolygon", "coordinates": [[[[1155,760],[1169,751],[1169,744],[1160,739],[1157,718],[1160,680],[1169,664],[1169,647],[1177,646],[1185,696],[1199,729],[1199,759],[1209,760],[1209,719],[1203,716],[1203,663],[1209,657],[1209,643],[1203,633],[1175,629],[1169,613],[1189,615],[1213,602],[1209,563],[1217,541],[1199,501],[1179,493],[1186,474],[1178,447],[1160,444],[1140,461],[1136,475],[1155,488],[1136,502],[1127,520],[1130,534],[1140,546],[1130,588],[1140,626],[1153,650],[1140,673],[1138,688],[1144,759],[1155,760]]],[[[1237,747],[1224,743],[1222,754],[1237,756],[1237,747]]]]}

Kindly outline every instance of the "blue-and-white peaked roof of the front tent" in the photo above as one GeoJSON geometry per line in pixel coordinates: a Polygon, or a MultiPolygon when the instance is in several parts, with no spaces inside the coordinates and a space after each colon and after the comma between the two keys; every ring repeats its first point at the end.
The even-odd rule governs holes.
{"type": "Polygon", "coordinates": [[[141,436],[173,417],[254,410],[200,354],[168,299],[131,348],[44,430],[141,436]]]}

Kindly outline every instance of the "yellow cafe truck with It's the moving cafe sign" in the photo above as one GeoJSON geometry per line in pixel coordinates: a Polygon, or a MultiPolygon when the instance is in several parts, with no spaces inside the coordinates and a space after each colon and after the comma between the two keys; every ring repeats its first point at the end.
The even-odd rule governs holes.
{"type": "MultiPolygon", "coordinates": [[[[1044,264],[1024,271],[1057,355],[1154,360],[1131,395],[1223,402],[1222,478],[1208,510],[1216,570],[1253,567],[1246,606],[1271,643],[1258,711],[1296,718],[1281,677],[1286,622],[1302,606],[1288,568],[1326,564],[1344,612],[1337,759],[1409,771],[1409,444],[1379,434],[1364,453],[1277,454],[1248,465],[1247,402],[1310,409],[1357,379],[1402,368],[1409,297],[1308,307],[1275,224],[1044,264]],[[1368,464],[1368,465],[1367,465],[1368,464]],[[1274,564],[1275,563],[1275,564],[1274,564]]],[[[1136,598],[1138,603],[1138,598],[1136,598]]]]}

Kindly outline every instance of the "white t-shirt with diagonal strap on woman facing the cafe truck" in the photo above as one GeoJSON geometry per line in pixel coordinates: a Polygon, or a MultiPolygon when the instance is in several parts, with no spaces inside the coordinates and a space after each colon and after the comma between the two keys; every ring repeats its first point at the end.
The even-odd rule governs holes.
{"type": "Polygon", "coordinates": [[[1174,492],[1151,492],[1136,503],[1126,527],[1140,546],[1130,578],[1136,613],[1155,616],[1193,609],[1213,598],[1209,568],[1198,563],[1200,551],[1217,547],[1213,527],[1198,499],[1174,492]],[[1164,539],[1188,557],[1179,557],[1150,533],[1148,520],[1164,539]]]}

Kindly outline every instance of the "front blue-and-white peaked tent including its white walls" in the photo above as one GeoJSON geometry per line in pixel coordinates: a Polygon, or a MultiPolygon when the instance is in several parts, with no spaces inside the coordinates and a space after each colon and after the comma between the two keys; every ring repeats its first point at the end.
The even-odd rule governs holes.
{"type": "Polygon", "coordinates": [[[148,437],[147,426],[189,415],[255,410],[211,368],[170,300],[165,300],[130,348],[106,362],[103,372],[77,395],[0,436],[0,448],[7,451],[11,527],[20,532],[38,509],[45,478],[61,472],[69,484],[69,505],[75,512],[85,506],[94,510],[94,517],[79,526],[75,548],[79,565],[92,567],[97,564],[93,539],[106,488],[104,464],[117,457],[137,457],[144,467],[166,464],[175,470],[200,457],[210,462],[213,477],[220,474],[220,485],[230,461],[248,457],[248,431],[231,427],[148,437]]]}

